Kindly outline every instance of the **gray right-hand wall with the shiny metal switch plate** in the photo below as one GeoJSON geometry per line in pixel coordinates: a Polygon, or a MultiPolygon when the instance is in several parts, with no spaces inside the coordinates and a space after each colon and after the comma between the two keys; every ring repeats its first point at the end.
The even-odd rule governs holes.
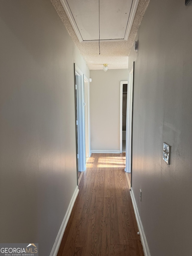
{"type": "Polygon", "coordinates": [[[192,6],[151,0],[135,61],[133,177],[152,256],[192,255],[192,6]],[[171,146],[170,166],[162,160],[171,146]],[[140,202],[139,190],[142,190],[140,202]]]}

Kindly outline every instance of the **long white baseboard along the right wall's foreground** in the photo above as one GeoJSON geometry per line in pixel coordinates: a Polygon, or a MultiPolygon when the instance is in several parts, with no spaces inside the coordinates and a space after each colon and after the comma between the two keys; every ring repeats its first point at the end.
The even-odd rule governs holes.
{"type": "Polygon", "coordinates": [[[133,192],[132,188],[131,188],[130,194],[131,194],[131,200],[132,200],[133,208],[134,208],[134,212],[135,212],[135,217],[136,217],[136,220],[137,220],[138,229],[139,229],[139,232],[140,232],[141,243],[143,245],[143,251],[144,251],[145,256],[150,256],[151,254],[149,252],[147,239],[146,239],[146,236],[145,236],[145,233],[144,233],[144,230],[143,230],[143,225],[142,225],[142,222],[141,222],[141,219],[140,219],[139,211],[138,211],[138,208],[137,208],[137,203],[136,203],[134,192],[133,192]]]}

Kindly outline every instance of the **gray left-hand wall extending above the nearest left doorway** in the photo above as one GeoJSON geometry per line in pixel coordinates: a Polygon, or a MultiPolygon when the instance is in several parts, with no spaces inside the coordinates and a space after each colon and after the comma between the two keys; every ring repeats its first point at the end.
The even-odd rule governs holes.
{"type": "Polygon", "coordinates": [[[77,186],[74,68],[49,0],[0,2],[0,241],[50,254],[77,186]]]}

